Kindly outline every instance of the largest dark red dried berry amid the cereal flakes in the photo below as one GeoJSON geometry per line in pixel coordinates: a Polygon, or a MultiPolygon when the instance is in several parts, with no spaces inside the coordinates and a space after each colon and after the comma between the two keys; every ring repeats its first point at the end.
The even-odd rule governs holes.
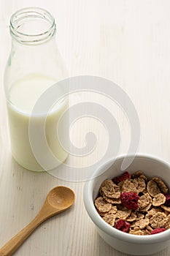
{"type": "Polygon", "coordinates": [[[138,208],[139,195],[135,192],[123,192],[120,194],[120,200],[123,206],[128,209],[135,210],[138,208]]]}

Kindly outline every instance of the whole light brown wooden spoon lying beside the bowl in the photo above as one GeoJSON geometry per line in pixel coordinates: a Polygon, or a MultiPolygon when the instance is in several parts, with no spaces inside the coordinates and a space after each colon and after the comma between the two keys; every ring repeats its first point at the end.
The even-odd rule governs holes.
{"type": "Polygon", "coordinates": [[[72,189],[68,187],[55,187],[47,195],[45,203],[39,214],[26,226],[23,230],[20,230],[13,238],[11,238],[7,244],[0,249],[0,256],[12,255],[18,247],[23,244],[23,241],[31,235],[31,233],[38,227],[42,222],[56,214],[60,214],[67,208],[72,206],[75,200],[75,195],[72,189]]]}

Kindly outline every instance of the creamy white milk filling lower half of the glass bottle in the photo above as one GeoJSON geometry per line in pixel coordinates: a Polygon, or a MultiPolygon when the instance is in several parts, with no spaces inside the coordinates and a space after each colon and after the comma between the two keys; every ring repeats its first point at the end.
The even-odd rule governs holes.
{"type": "MultiPolygon", "coordinates": [[[[55,82],[55,80],[43,75],[28,75],[14,83],[9,91],[7,109],[12,155],[20,165],[28,170],[43,170],[34,157],[28,137],[31,110],[34,108],[39,96],[55,82]]],[[[45,122],[47,145],[50,151],[53,152],[53,155],[59,160],[56,161],[55,167],[61,164],[68,155],[59,143],[57,136],[58,120],[66,108],[68,108],[68,99],[64,99],[60,104],[56,105],[53,111],[50,111],[48,114],[45,122]]],[[[42,121],[41,116],[42,114],[34,116],[35,124],[39,124],[42,121]]],[[[63,136],[66,129],[69,129],[69,124],[67,127],[63,127],[63,136]]],[[[35,130],[35,132],[38,131],[35,130]]],[[[42,157],[45,159],[46,155],[42,157]]]]}

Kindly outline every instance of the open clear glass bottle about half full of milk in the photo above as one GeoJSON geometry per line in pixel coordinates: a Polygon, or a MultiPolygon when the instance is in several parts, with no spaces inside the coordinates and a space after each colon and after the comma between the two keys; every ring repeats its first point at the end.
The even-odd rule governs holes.
{"type": "MultiPolygon", "coordinates": [[[[28,170],[51,170],[60,165],[68,155],[56,129],[59,119],[68,108],[69,99],[61,99],[47,116],[43,111],[32,112],[39,97],[55,83],[55,92],[59,93],[62,86],[58,86],[57,82],[66,78],[66,69],[55,42],[55,30],[53,16],[42,8],[18,10],[10,20],[12,48],[4,73],[9,135],[12,156],[28,170]],[[45,138],[49,151],[46,152],[42,146],[38,149],[45,166],[37,160],[31,146],[30,119],[34,123],[34,138],[39,134],[39,124],[41,126],[41,122],[45,121],[45,138]],[[56,159],[51,165],[49,152],[56,159]]],[[[64,136],[69,126],[66,121],[62,125],[64,136]]],[[[40,142],[41,140],[39,144],[40,142]]]]}

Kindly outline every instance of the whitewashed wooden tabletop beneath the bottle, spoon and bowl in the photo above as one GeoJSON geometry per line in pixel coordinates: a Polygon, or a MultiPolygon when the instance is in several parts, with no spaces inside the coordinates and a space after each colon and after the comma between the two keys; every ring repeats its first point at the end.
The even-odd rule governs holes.
{"type": "MultiPolygon", "coordinates": [[[[12,159],[3,89],[10,50],[9,18],[22,7],[49,10],[58,25],[58,48],[70,75],[96,75],[117,83],[134,102],[139,116],[139,152],[170,162],[170,2],[1,0],[0,4],[0,246],[36,216],[51,188],[66,185],[76,193],[74,206],[42,224],[15,255],[125,256],[98,236],[83,205],[84,182],[30,172],[12,159]]],[[[112,108],[121,132],[121,154],[127,151],[131,140],[130,129],[125,113],[116,104],[112,108]]],[[[87,129],[81,127],[79,121],[72,131],[74,143],[80,147],[88,124],[87,129]]],[[[89,127],[93,127],[93,121],[89,127]]],[[[96,157],[103,150],[103,139],[102,134],[98,136],[96,157]]],[[[83,162],[81,158],[73,159],[73,165],[74,161],[79,165],[83,162]]],[[[169,254],[170,246],[155,256],[169,254]]]]}

